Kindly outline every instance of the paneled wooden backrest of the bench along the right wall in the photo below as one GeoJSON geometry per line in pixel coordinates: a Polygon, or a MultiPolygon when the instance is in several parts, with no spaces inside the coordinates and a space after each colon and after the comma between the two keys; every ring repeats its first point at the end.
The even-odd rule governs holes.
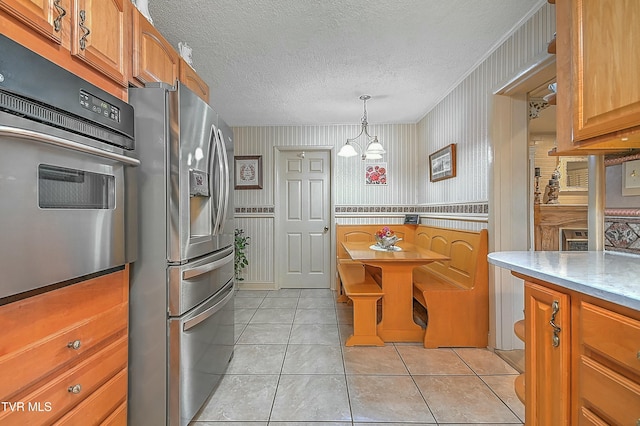
{"type": "Polygon", "coordinates": [[[479,232],[420,225],[414,243],[451,258],[421,266],[428,272],[472,289],[488,282],[487,230],[479,232]]]}

